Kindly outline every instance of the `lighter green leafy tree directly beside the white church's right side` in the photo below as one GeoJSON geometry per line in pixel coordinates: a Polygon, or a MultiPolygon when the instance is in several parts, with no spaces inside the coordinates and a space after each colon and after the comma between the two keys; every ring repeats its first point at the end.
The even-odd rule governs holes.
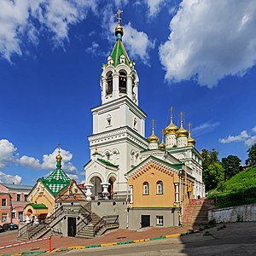
{"type": "Polygon", "coordinates": [[[206,184],[207,190],[214,189],[218,183],[224,180],[224,168],[219,163],[218,151],[215,148],[212,150],[201,150],[202,160],[202,175],[203,182],[206,184]]]}

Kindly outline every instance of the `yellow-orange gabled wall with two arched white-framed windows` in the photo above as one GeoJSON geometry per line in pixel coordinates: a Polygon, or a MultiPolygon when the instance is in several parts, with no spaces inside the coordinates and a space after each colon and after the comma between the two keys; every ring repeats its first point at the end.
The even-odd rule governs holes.
{"type": "Polygon", "coordinates": [[[164,167],[150,163],[142,171],[129,178],[133,186],[132,207],[173,207],[175,202],[175,186],[178,175],[164,167]],[[163,194],[157,194],[157,182],[163,183],[163,194]],[[143,183],[148,182],[149,194],[143,195],[143,183]]]}

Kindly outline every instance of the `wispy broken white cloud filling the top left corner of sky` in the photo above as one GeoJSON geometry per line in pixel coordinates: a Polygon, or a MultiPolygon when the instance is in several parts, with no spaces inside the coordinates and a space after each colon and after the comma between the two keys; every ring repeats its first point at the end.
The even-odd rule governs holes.
{"type": "Polygon", "coordinates": [[[11,61],[12,55],[22,55],[24,44],[38,44],[39,34],[45,32],[50,32],[55,46],[63,46],[70,26],[84,20],[96,4],[96,0],[1,0],[0,55],[11,61]]]}

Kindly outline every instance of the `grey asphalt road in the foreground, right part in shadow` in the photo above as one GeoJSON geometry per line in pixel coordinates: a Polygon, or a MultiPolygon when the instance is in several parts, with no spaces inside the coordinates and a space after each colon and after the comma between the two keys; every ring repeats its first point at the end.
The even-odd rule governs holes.
{"type": "Polygon", "coordinates": [[[179,238],[113,247],[73,250],[44,255],[143,256],[143,255],[256,255],[256,223],[225,224],[179,238]],[[208,233],[207,233],[208,232],[208,233]],[[208,236],[206,236],[208,235],[208,236]]]}

